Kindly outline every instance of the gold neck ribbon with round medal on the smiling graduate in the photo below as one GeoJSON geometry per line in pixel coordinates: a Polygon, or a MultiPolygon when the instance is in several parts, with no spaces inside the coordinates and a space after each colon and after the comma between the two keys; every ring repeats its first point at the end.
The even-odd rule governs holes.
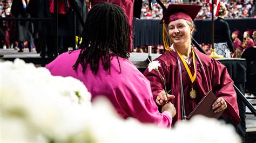
{"type": "Polygon", "coordinates": [[[175,49],[181,59],[181,61],[183,62],[183,65],[185,66],[186,70],[187,70],[187,74],[188,76],[190,76],[190,80],[191,80],[191,83],[192,83],[192,89],[190,91],[190,97],[191,98],[196,98],[197,97],[197,92],[193,89],[193,82],[194,80],[196,80],[196,76],[197,76],[197,72],[196,72],[196,62],[194,60],[194,50],[193,48],[191,47],[191,50],[192,50],[192,60],[193,60],[193,65],[194,65],[194,75],[192,76],[191,74],[191,71],[190,69],[188,68],[187,66],[187,62],[183,59],[183,57],[181,56],[181,54],[179,53],[179,51],[177,49],[175,49]]]}

